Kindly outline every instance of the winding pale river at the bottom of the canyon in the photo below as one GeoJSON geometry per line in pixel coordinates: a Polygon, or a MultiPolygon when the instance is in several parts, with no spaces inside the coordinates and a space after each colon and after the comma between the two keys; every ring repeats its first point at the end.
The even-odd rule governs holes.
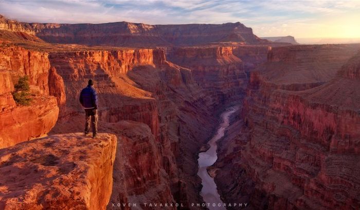
{"type": "Polygon", "coordinates": [[[210,205],[207,206],[209,209],[226,209],[223,206],[219,207],[217,205],[219,203],[223,203],[223,201],[220,199],[214,179],[210,177],[206,168],[214,164],[218,159],[217,141],[224,136],[224,132],[229,126],[230,115],[238,109],[239,107],[230,107],[221,114],[222,123],[220,124],[217,133],[208,142],[210,148],[205,152],[199,153],[199,159],[197,160],[199,163],[199,171],[197,172],[197,175],[201,178],[201,183],[203,185],[200,195],[203,197],[205,203],[210,203],[210,205]],[[212,204],[216,205],[212,206],[212,204]]]}

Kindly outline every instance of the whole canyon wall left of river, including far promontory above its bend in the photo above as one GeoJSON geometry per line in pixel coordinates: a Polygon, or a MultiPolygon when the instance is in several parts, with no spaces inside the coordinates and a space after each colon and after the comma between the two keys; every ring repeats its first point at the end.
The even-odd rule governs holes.
{"type": "MultiPolygon", "coordinates": [[[[202,201],[197,153],[217,126],[217,115],[227,102],[242,99],[247,83],[248,73],[232,49],[179,48],[168,51],[167,56],[161,49],[49,53],[50,65],[64,80],[66,97],[74,98],[66,100],[51,133],[82,131],[79,122],[84,116],[78,97],[87,80],[94,79],[101,130],[122,136],[118,149],[124,152],[119,153],[116,171],[125,172],[114,173],[116,191],[108,207],[125,200],[175,201],[185,206],[202,201]],[[131,134],[135,131],[128,131],[130,128],[138,134],[131,134]],[[134,142],[143,159],[127,152],[136,150],[134,142]],[[159,190],[162,196],[154,193],[159,190]]],[[[258,55],[250,65],[255,66],[266,58],[267,50],[241,48],[237,53],[258,55]]]]}

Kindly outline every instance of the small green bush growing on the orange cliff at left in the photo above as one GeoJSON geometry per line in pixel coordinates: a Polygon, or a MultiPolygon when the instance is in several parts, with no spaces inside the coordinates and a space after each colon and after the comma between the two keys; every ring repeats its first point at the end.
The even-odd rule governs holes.
{"type": "Polygon", "coordinates": [[[12,93],[16,104],[23,106],[29,106],[31,102],[30,98],[30,86],[29,77],[23,76],[19,78],[19,81],[14,85],[15,91],[12,93]]]}

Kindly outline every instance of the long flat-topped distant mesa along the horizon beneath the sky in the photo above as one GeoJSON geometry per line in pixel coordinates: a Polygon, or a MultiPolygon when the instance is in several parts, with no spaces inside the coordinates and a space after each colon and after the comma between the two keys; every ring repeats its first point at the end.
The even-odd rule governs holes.
{"type": "Polygon", "coordinates": [[[142,23],[20,23],[0,15],[0,29],[27,32],[50,43],[106,46],[191,46],[210,43],[268,43],[240,22],[225,24],[147,25],[142,23]]]}

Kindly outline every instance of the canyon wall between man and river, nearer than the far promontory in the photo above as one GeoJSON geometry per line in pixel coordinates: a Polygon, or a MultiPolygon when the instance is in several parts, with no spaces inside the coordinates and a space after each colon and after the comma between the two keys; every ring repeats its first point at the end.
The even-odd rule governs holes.
{"type": "Polygon", "coordinates": [[[194,83],[190,69],[166,61],[159,49],[58,52],[50,53],[49,60],[64,80],[66,97],[74,98],[66,100],[51,133],[83,130],[78,97],[88,79],[94,79],[98,91],[103,131],[121,135],[122,127],[127,127],[120,123],[124,119],[143,123],[129,126],[141,129],[143,133],[137,130],[136,135],[143,137],[131,135],[119,140],[125,152],[119,154],[118,167],[125,167],[125,172],[124,178],[114,173],[121,180],[114,184],[118,190],[114,191],[114,203],[124,198],[175,200],[184,205],[201,200],[200,180],[195,176],[196,154],[216,121],[211,110],[202,106],[204,93],[194,83]],[[151,133],[145,132],[144,124],[151,133]],[[136,148],[135,139],[139,139],[139,152],[144,155],[141,160],[134,152],[127,153],[136,148]],[[162,196],[154,190],[163,191],[162,196]]]}

